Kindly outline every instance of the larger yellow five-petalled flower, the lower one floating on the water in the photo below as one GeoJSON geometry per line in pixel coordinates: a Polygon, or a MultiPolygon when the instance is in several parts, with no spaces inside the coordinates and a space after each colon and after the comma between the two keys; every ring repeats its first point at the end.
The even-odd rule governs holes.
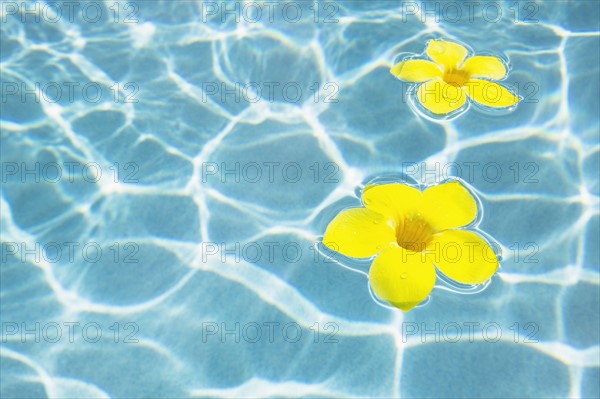
{"type": "Polygon", "coordinates": [[[377,255],[371,287],[405,312],[427,298],[435,267],[463,284],[481,284],[498,268],[484,239],[457,229],[477,216],[477,202],[457,181],[424,191],[404,184],[367,186],[362,202],[365,208],[347,209],[329,223],[323,243],[352,258],[377,255]]]}

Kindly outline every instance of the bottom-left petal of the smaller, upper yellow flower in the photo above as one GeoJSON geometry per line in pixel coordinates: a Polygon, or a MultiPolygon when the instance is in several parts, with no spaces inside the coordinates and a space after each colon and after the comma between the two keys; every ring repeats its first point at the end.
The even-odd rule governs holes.
{"type": "Polygon", "coordinates": [[[437,115],[456,111],[467,100],[465,92],[460,87],[449,85],[440,78],[419,86],[417,98],[425,108],[437,115]]]}

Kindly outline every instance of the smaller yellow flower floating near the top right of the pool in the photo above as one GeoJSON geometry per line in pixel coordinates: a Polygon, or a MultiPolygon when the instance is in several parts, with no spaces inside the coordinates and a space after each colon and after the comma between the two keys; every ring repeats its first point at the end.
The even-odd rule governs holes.
{"type": "Polygon", "coordinates": [[[508,108],[519,102],[519,97],[491,81],[506,76],[500,59],[483,55],[467,58],[465,47],[442,40],[431,40],[425,52],[432,61],[404,60],[390,72],[404,81],[424,82],[417,89],[417,99],[432,113],[456,111],[465,105],[467,97],[492,108],[508,108]]]}

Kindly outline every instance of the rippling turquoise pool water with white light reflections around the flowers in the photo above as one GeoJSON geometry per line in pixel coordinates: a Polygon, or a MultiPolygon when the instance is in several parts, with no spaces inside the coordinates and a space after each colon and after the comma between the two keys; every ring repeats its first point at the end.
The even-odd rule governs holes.
{"type": "Polygon", "coordinates": [[[2,2],[2,398],[600,396],[598,2],[82,4],[2,2]],[[434,38],[525,100],[415,114],[434,38]],[[319,252],[406,176],[479,197],[481,292],[402,313],[319,252]]]}

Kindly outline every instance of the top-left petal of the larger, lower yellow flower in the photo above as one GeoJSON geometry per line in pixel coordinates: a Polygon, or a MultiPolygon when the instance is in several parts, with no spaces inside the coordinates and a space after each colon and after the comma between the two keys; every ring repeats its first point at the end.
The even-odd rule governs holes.
{"type": "Polygon", "coordinates": [[[420,190],[406,184],[382,184],[365,187],[363,204],[382,215],[399,220],[408,213],[416,213],[422,205],[420,190]]]}

